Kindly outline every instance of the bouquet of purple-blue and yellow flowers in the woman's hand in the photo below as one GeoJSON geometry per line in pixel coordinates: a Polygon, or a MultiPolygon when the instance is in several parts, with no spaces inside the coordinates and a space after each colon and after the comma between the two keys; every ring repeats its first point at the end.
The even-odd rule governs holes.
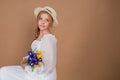
{"type": "Polygon", "coordinates": [[[42,53],[40,50],[37,50],[36,53],[28,51],[27,65],[32,67],[32,72],[36,66],[42,65],[42,53]]]}

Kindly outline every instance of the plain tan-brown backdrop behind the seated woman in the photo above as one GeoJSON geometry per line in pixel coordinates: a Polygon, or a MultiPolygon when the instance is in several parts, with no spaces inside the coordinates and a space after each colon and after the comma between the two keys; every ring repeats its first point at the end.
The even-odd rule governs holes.
{"type": "Polygon", "coordinates": [[[45,5],[58,13],[58,80],[120,80],[119,0],[0,0],[0,66],[27,54],[45,5]]]}

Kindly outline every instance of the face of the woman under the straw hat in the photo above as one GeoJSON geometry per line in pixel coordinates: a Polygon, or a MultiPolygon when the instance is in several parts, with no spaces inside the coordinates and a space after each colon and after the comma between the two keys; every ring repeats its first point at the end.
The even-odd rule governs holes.
{"type": "Polygon", "coordinates": [[[40,13],[38,16],[38,26],[40,30],[47,30],[52,26],[52,18],[48,13],[40,13]]]}

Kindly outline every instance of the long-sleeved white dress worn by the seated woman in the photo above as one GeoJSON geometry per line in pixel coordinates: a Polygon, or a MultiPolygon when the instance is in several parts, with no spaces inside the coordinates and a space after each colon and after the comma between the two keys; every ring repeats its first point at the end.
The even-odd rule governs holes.
{"type": "MultiPolygon", "coordinates": [[[[52,34],[46,34],[41,41],[32,42],[32,50],[42,51],[43,64],[32,72],[30,66],[4,66],[0,68],[0,80],[56,80],[56,42],[52,34]]],[[[27,58],[27,57],[26,57],[27,58]]]]}

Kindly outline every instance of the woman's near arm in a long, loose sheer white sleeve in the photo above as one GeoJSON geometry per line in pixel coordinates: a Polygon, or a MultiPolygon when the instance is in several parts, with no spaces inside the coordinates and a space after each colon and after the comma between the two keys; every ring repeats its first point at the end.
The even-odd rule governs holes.
{"type": "Polygon", "coordinates": [[[43,67],[39,73],[50,73],[56,67],[56,38],[46,37],[43,48],[43,67]]]}

